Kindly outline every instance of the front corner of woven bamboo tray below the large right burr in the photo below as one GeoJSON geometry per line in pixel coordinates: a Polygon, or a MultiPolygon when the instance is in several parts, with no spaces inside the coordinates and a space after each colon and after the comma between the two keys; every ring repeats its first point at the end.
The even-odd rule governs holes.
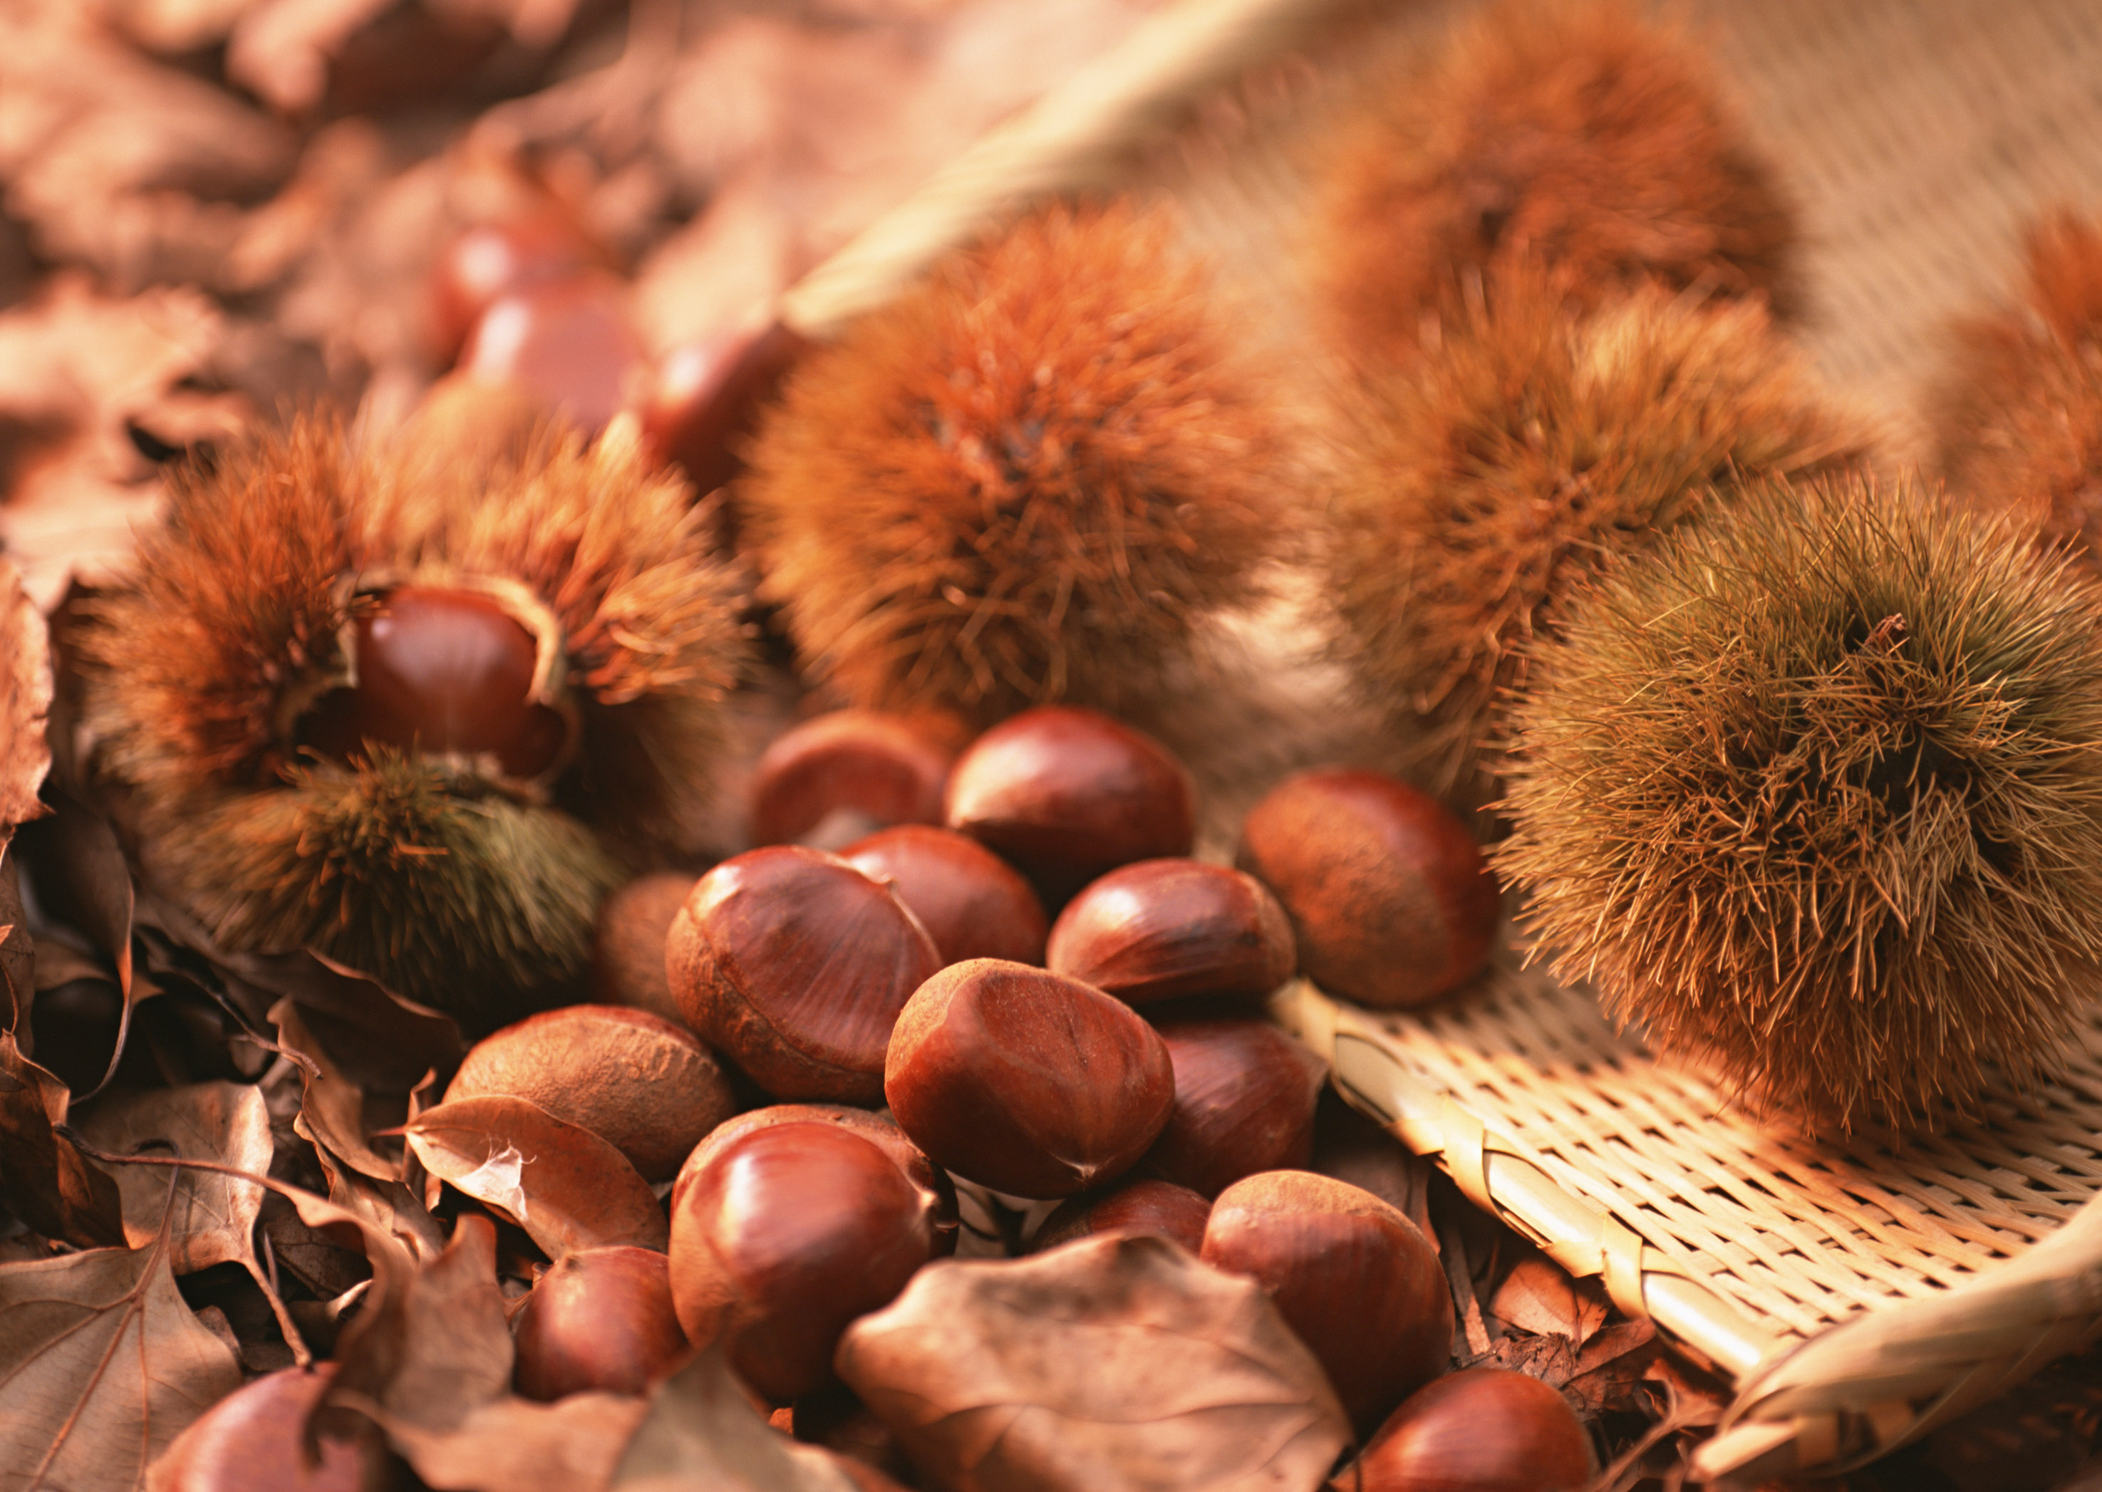
{"type": "Polygon", "coordinates": [[[2102,1332],[2102,1011],[2060,1082],[1904,1145],[1755,1122],[1509,962],[1431,1013],[1305,981],[1272,1013],[1476,1206],[1734,1381],[1698,1477],[1860,1465],[2102,1332]]]}

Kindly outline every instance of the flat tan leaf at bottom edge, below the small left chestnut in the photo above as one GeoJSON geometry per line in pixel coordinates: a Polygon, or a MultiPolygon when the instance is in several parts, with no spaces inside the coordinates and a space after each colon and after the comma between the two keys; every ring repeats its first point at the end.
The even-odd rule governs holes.
{"type": "Polygon", "coordinates": [[[374,1421],[437,1492],[603,1492],[647,1408],[620,1393],[572,1393],[555,1404],[496,1400],[452,1431],[376,1406],[374,1421]]]}

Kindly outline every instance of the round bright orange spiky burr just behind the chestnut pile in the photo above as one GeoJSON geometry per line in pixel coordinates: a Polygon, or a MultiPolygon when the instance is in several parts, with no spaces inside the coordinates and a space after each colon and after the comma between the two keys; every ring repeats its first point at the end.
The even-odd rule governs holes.
{"type": "Polygon", "coordinates": [[[990,723],[1148,704],[1261,599],[1286,443],[1173,223],[1045,208],[811,353],[740,492],[805,662],[990,723]]]}

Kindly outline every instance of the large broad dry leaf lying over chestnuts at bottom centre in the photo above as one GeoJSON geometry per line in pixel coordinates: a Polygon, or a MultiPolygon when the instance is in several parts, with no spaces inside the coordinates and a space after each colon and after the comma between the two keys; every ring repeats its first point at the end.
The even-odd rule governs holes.
{"type": "Polygon", "coordinates": [[[935,1261],[839,1376],[944,1488],[1314,1488],[1349,1421],[1253,1280],[1162,1238],[935,1261]]]}

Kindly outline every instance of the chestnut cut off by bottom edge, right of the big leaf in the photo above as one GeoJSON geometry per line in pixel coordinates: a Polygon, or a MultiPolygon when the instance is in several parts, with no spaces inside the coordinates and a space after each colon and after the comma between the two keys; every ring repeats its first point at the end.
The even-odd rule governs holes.
{"type": "Polygon", "coordinates": [[[1591,1439],[1539,1379],[1467,1368],[1410,1393],[1339,1481],[1362,1492],[1576,1492],[1591,1481],[1591,1439]]]}

